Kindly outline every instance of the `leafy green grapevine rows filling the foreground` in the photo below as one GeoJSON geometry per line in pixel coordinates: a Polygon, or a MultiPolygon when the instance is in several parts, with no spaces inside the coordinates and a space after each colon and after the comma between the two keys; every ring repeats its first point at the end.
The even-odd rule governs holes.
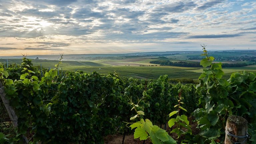
{"type": "Polygon", "coordinates": [[[173,84],[167,75],[145,80],[63,72],[61,61],[49,70],[33,67],[25,56],[21,65],[0,65],[0,94],[6,98],[0,102],[0,143],[103,144],[104,137],[119,133],[134,134],[141,143],[217,144],[224,142],[231,115],[248,121],[247,143],[255,143],[255,73],[235,72],[222,79],[222,64],[212,63],[203,49],[200,64],[206,69],[199,85],[173,84]],[[8,117],[4,104],[17,119],[8,117]],[[192,122],[199,133],[192,131],[192,122]]]}

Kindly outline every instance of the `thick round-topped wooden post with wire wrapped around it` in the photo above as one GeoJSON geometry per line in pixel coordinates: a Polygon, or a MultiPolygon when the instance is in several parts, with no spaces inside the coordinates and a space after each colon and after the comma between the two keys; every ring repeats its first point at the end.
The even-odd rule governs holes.
{"type": "Polygon", "coordinates": [[[226,137],[224,144],[246,144],[248,138],[248,122],[240,116],[230,116],[226,123],[226,137]]]}

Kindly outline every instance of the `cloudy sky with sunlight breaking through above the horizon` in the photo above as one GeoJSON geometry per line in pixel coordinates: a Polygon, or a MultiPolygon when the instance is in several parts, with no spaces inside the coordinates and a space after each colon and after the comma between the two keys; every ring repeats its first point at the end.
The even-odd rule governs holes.
{"type": "Polygon", "coordinates": [[[256,49],[255,0],[0,0],[0,56],[256,49]]]}

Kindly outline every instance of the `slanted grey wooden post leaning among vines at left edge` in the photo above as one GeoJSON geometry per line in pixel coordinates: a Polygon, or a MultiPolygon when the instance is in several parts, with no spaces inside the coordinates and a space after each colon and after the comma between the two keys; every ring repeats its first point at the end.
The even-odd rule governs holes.
{"type": "MultiPolygon", "coordinates": [[[[3,100],[4,106],[9,114],[9,117],[11,118],[12,124],[14,128],[18,127],[18,116],[15,114],[15,111],[12,106],[10,106],[10,101],[6,98],[4,86],[2,81],[0,80],[0,96],[3,100]]],[[[24,140],[25,144],[28,144],[28,139],[26,136],[22,135],[22,138],[24,140]]]]}

